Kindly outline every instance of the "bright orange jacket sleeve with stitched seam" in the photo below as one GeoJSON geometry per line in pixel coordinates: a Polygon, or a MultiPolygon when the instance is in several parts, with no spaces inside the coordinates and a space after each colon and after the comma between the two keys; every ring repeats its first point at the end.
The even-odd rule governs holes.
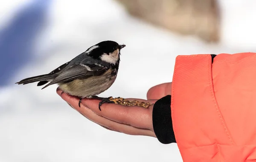
{"type": "Polygon", "coordinates": [[[177,56],[171,94],[184,162],[256,161],[256,53],[177,56]]]}

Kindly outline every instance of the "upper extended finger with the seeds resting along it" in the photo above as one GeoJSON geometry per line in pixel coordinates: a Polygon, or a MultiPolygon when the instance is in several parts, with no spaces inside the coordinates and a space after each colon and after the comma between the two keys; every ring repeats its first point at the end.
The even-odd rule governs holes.
{"type": "Polygon", "coordinates": [[[152,106],[143,108],[139,106],[122,106],[115,103],[104,103],[100,111],[99,100],[84,98],[81,102],[97,115],[118,123],[153,130],[152,106]]]}

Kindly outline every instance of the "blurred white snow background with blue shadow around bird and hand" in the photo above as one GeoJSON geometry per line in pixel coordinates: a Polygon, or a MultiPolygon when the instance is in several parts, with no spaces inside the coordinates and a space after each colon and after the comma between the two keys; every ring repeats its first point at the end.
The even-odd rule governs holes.
{"type": "Polygon", "coordinates": [[[56,94],[56,85],[14,83],[49,73],[107,39],[126,47],[103,97],[146,98],[150,87],[172,81],[177,55],[256,52],[254,0],[219,1],[218,45],[137,20],[113,0],[0,2],[0,162],[182,162],[176,144],[90,122],[56,94]]]}

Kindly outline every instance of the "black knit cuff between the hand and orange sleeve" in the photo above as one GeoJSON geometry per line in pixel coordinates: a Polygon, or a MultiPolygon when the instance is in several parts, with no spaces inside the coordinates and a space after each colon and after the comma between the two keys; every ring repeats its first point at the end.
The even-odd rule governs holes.
{"type": "Polygon", "coordinates": [[[153,128],[159,142],[169,144],[176,142],[172,128],[171,95],[167,95],[154,103],[153,128]]]}

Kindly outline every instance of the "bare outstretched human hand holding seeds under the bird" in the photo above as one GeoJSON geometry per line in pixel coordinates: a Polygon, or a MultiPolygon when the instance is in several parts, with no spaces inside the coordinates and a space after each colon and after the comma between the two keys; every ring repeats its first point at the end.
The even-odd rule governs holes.
{"type": "MultiPolygon", "coordinates": [[[[171,87],[172,83],[157,85],[148,90],[147,101],[143,99],[135,100],[155,103],[157,99],[169,95],[171,87]]],[[[122,106],[119,104],[104,103],[101,106],[102,111],[100,111],[99,100],[84,98],[81,101],[81,107],[79,107],[79,98],[62,93],[60,89],[57,89],[57,93],[81,115],[104,128],[125,134],[156,137],[152,122],[154,105],[145,109],[139,106],[122,106]]],[[[128,100],[132,101],[134,98],[128,98],[128,100]]]]}

